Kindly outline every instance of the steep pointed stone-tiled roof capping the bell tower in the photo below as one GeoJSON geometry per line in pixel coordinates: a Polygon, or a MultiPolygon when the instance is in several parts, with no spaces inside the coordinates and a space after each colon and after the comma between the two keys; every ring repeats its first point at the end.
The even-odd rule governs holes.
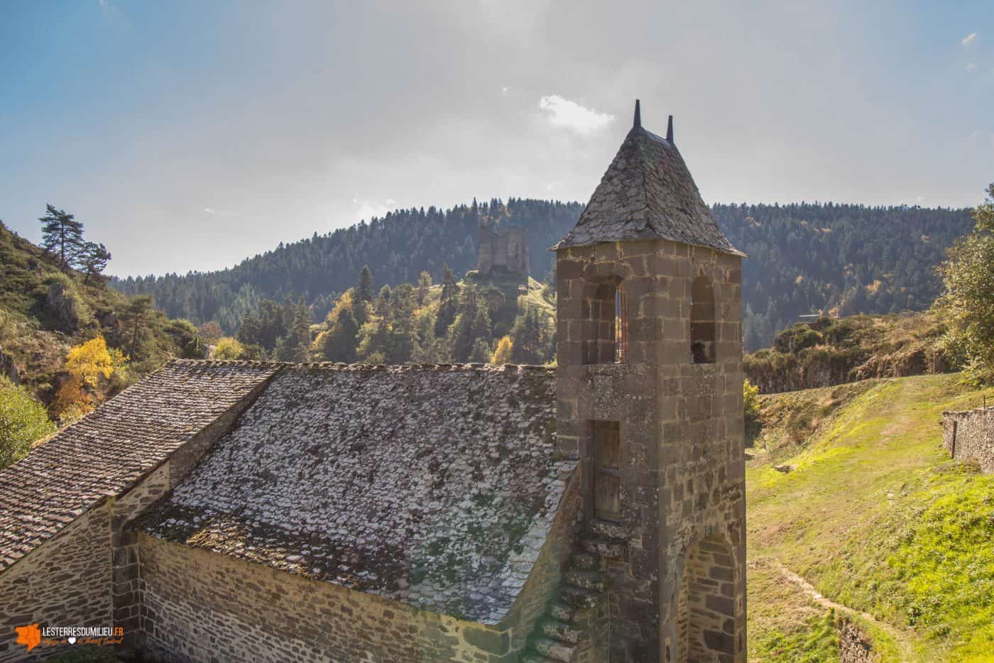
{"type": "Polygon", "coordinates": [[[743,255],[722,235],[676,145],[636,125],[555,249],[657,239],[743,255]]]}

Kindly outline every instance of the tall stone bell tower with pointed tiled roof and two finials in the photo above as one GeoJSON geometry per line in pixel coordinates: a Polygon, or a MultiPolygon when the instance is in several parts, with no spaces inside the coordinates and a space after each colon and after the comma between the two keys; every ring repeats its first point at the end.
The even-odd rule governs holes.
{"type": "Polygon", "coordinates": [[[741,261],[673,140],[634,125],[555,247],[557,435],[616,532],[611,661],[745,661],[741,261]]]}

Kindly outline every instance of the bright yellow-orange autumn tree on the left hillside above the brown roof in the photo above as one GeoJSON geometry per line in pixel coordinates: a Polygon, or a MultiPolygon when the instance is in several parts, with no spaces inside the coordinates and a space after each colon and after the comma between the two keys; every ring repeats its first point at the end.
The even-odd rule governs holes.
{"type": "Polygon", "coordinates": [[[122,370],[124,355],[117,349],[107,349],[102,336],[74,346],[66,354],[69,378],[56,394],[54,408],[64,422],[76,420],[96,407],[98,388],[110,376],[122,370]]]}

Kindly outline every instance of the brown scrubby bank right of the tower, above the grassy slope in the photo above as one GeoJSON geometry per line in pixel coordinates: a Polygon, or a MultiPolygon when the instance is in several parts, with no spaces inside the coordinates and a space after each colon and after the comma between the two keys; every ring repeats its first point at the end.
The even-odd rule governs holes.
{"type": "Polygon", "coordinates": [[[745,355],[748,381],[763,394],[956,368],[944,350],[945,324],[930,312],[822,317],[797,323],[773,347],[745,355]]]}

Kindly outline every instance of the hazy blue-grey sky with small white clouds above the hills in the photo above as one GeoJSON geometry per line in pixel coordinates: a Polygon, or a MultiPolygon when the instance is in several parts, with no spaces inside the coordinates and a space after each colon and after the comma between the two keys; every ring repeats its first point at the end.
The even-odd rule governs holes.
{"type": "Polygon", "coordinates": [[[994,181],[994,3],[0,3],[0,220],[51,203],[118,275],[387,211],[585,202],[674,115],[708,203],[967,207],[994,181]]]}

